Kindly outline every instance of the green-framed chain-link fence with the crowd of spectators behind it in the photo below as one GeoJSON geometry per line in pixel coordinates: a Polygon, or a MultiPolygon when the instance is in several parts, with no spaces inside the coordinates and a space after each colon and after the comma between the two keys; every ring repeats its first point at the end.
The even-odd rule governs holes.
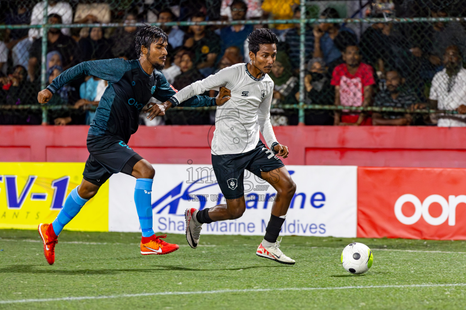
{"type": "MultiPolygon", "coordinates": [[[[82,77],[44,106],[37,92],[82,61],[135,59],[150,23],[169,33],[164,75],[178,89],[247,62],[247,34],[272,28],[273,125],[466,125],[465,2],[4,0],[0,124],[92,122],[106,81],[82,77]]],[[[215,120],[209,109],[169,112],[151,124],[215,120]]]]}

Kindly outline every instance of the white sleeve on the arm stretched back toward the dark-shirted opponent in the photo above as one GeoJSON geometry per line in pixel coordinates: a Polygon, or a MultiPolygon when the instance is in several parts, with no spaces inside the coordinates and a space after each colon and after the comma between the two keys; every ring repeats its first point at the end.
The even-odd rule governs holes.
{"type": "Polygon", "coordinates": [[[219,72],[209,75],[205,79],[196,81],[182,90],[178,91],[171,99],[174,99],[176,106],[183,101],[190,99],[192,96],[199,95],[210,90],[219,90],[219,87],[226,86],[226,83],[232,78],[233,70],[231,67],[220,70],[219,72]]]}

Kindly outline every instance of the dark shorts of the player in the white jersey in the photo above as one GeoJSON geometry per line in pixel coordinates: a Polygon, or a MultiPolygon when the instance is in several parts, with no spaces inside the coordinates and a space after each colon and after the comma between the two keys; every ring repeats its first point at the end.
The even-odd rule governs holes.
{"type": "Polygon", "coordinates": [[[244,196],[244,170],[261,178],[260,172],[283,167],[280,158],[259,140],[254,150],[241,154],[212,154],[212,167],[220,190],[226,199],[244,196]]]}

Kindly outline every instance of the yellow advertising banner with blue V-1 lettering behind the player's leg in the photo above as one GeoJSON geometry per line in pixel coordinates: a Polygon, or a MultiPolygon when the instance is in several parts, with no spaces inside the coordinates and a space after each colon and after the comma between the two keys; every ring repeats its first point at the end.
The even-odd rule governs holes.
{"type": "MultiPolygon", "coordinates": [[[[52,223],[69,192],[81,184],[83,169],[84,163],[0,163],[0,228],[52,223]]],[[[65,229],[109,230],[108,182],[65,229]]]]}

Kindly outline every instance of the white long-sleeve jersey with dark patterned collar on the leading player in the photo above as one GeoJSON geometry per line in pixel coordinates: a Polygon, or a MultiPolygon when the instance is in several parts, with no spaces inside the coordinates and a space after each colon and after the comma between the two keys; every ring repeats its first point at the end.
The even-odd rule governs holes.
{"type": "Polygon", "coordinates": [[[247,70],[247,64],[222,69],[206,79],[186,86],[171,99],[179,104],[203,92],[218,91],[221,86],[231,90],[231,99],[222,106],[217,106],[212,154],[249,152],[259,142],[259,131],[270,148],[277,141],[270,124],[274,81],[267,74],[256,79],[247,70]]]}

